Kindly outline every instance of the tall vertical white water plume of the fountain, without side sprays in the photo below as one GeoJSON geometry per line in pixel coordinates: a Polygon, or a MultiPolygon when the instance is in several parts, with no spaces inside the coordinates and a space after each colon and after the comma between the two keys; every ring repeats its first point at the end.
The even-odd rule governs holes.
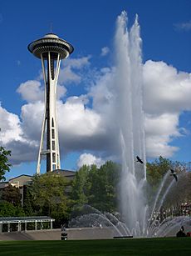
{"type": "Polygon", "coordinates": [[[120,208],[126,226],[134,230],[134,233],[143,233],[146,230],[143,191],[146,171],[145,164],[135,162],[138,155],[145,163],[141,38],[137,16],[129,32],[127,14],[120,14],[117,19],[115,49],[116,120],[119,123],[122,153],[120,208]]]}

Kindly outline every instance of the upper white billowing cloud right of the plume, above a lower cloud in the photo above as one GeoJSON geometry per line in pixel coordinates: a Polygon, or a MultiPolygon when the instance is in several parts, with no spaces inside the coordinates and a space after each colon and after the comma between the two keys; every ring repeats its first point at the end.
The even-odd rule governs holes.
{"type": "Polygon", "coordinates": [[[179,113],[191,110],[191,74],[164,62],[147,61],[143,68],[144,111],[179,113]]]}

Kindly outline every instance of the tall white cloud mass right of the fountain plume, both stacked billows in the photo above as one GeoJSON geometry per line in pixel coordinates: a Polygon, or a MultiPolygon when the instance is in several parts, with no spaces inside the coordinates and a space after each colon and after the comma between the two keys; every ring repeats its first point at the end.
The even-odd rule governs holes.
{"type": "Polygon", "coordinates": [[[185,128],[179,127],[179,116],[191,110],[191,74],[149,60],[143,77],[147,155],[172,157],[179,148],[170,143],[185,134],[185,128]]]}

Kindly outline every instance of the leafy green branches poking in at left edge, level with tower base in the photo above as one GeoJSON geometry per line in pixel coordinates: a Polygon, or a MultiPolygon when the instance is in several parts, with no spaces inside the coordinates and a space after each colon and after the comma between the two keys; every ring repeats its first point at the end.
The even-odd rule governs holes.
{"type": "Polygon", "coordinates": [[[12,164],[8,163],[8,156],[11,156],[11,151],[0,147],[0,181],[5,180],[5,173],[12,167],[12,164]]]}

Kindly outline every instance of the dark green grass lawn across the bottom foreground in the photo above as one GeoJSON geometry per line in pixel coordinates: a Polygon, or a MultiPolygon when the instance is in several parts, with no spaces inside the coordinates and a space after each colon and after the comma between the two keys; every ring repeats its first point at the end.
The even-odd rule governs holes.
{"type": "Polygon", "coordinates": [[[0,241],[0,255],[191,255],[191,238],[0,241]]]}

